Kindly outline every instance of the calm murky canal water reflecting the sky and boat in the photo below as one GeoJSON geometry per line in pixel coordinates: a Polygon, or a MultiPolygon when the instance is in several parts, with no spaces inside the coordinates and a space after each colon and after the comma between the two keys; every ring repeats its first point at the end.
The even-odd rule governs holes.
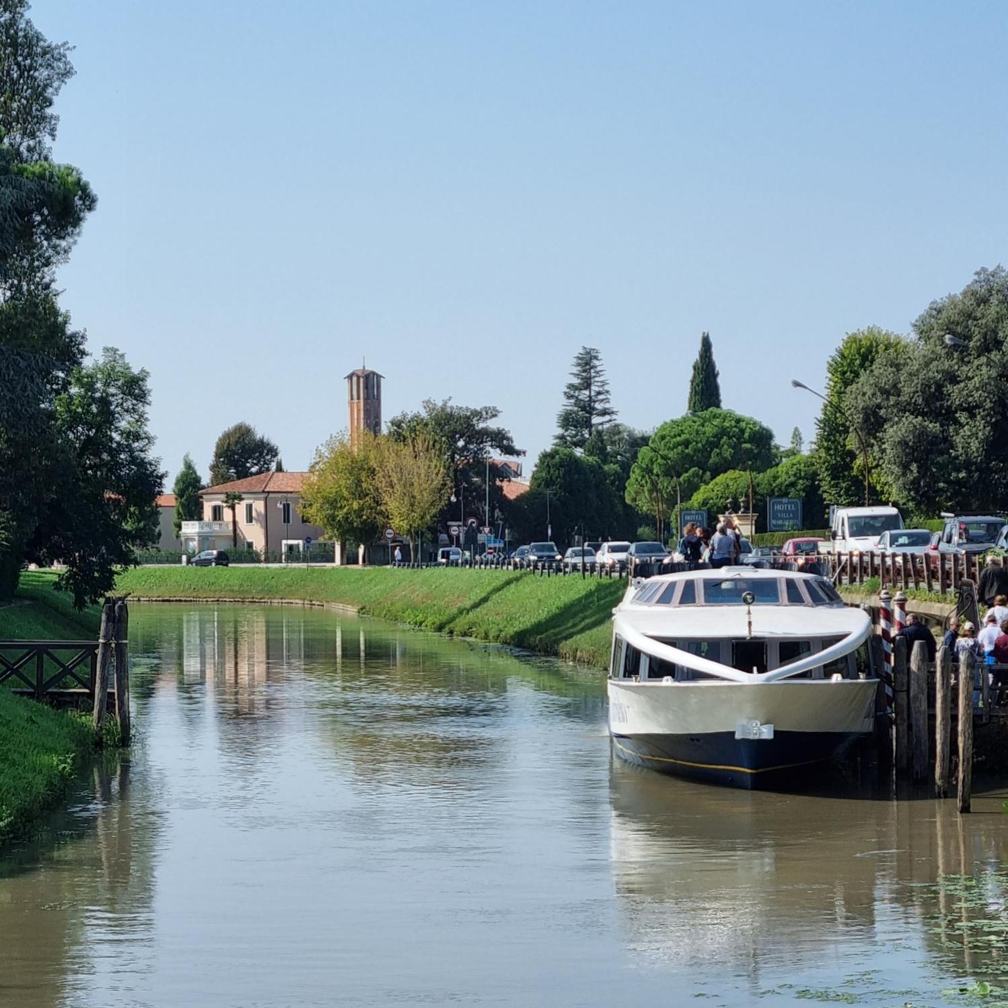
{"type": "Polygon", "coordinates": [[[611,759],[597,673],[318,610],[137,606],[131,638],[133,752],[0,862],[0,1004],[1008,988],[1000,796],[660,777],[611,759]]]}

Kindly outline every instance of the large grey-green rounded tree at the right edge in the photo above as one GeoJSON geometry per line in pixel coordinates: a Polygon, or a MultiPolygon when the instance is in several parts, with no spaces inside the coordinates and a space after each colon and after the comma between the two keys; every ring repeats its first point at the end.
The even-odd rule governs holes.
{"type": "Polygon", "coordinates": [[[846,406],[899,503],[921,515],[1004,509],[1008,271],[981,269],[961,292],[932,301],[912,339],[850,383],[846,406]]]}

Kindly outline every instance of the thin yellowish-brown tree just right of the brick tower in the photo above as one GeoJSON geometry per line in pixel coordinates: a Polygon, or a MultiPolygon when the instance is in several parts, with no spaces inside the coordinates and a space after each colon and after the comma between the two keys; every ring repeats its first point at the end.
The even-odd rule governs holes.
{"type": "Polygon", "coordinates": [[[409,539],[416,556],[416,536],[430,528],[448,500],[452,484],[440,446],[426,433],[376,442],[375,479],[382,509],[392,527],[409,539]]]}

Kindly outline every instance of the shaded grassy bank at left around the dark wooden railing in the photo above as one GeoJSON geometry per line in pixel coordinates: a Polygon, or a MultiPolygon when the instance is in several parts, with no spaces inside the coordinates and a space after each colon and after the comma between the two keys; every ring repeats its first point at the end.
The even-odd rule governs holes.
{"type": "MultiPolygon", "coordinates": [[[[0,640],[97,636],[97,612],[75,612],[46,575],[22,576],[15,604],[0,608],[0,640]]],[[[90,719],[0,688],[0,845],[58,800],[93,750],[90,719]]]]}

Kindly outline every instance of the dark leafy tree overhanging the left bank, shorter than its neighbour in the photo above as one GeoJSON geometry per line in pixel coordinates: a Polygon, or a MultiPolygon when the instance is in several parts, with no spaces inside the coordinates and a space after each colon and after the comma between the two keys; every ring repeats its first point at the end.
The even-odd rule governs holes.
{"type": "Polygon", "coordinates": [[[112,591],[118,571],[157,539],[164,473],[151,455],[147,379],[106,347],[56,397],[54,480],[27,552],[66,565],[57,585],[78,608],[112,591]]]}

